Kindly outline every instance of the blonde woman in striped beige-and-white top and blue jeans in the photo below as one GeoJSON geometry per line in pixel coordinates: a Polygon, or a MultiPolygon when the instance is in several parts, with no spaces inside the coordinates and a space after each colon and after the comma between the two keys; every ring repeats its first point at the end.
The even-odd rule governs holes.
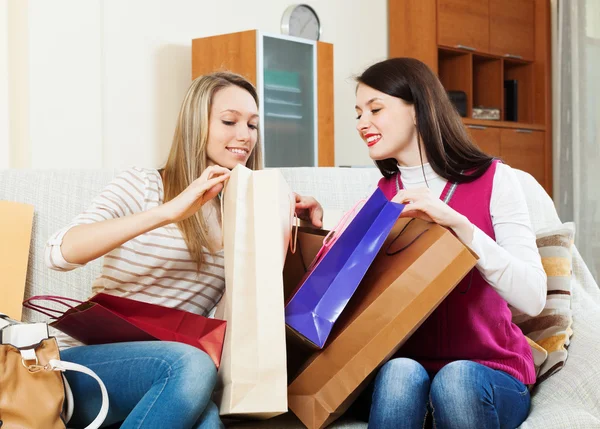
{"type": "MultiPolygon", "coordinates": [[[[243,77],[214,73],[189,88],[162,170],[120,174],[49,241],[50,268],[67,271],[104,256],[93,293],[206,315],[224,286],[219,204],[215,197],[230,169],[261,168],[258,96],[243,77]]],[[[297,196],[298,215],[321,225],[322,209],[297,196]]],[[[65,360],[94,370],[107,386],[105,426],[220,428],[210,397],[216,381],[211,359],[171,342],[82,346],[59,338],[65,360]]],[[[68,375],[75,395],[71,425],[97,414],[100,392],[85,377],[68,375]]]]}

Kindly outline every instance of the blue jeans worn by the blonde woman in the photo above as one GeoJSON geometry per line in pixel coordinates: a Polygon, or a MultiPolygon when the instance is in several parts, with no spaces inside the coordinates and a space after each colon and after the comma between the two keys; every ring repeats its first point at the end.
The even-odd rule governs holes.
{"type": "MultiPolygon", "coordinates": [[[[103,427],[220,429],[211,402],[215,364],[203,351],[181,343],[148,341],[81,346],[61,352],[65,361],[85,365],[108,390],[103,427]]],[[[87,375],[67,372],[75,411],[69,427],[84,427],[98,414],[100,388],[87,375]]]]}

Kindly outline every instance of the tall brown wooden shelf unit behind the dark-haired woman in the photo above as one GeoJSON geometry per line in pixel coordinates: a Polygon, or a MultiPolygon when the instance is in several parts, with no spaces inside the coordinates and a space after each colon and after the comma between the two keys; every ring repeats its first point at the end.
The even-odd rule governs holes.
{"type": "Polygon", "coordinates": [[[550,1],[388,0],[388,19],[389,56],[417,58],[464,91],[474,141],[552,195],[550,1]],[[517,81],[515,122],[505,80],[517,81]],[[478,106],[500,109],[500,120],[473,119],[478,106]]]}

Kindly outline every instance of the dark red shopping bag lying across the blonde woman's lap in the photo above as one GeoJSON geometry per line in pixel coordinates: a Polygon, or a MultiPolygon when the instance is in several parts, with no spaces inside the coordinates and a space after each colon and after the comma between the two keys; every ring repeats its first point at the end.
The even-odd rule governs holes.
{"type": "Polygon", "coordinates": [[[221,362],[226,326],[224,320],[209,319],[187,311],[105,293],[99,293],[85,302],[40,295],[25,300],[23,305],[55,318],[50,326],[84,344],[177,341],[204,351],[217,368],[221,362]],[[37,301],[53,301],[69,309],[63,313],[41,306],[37,301]],[[72,306],[69,302],[78,305],[72,306]]]}

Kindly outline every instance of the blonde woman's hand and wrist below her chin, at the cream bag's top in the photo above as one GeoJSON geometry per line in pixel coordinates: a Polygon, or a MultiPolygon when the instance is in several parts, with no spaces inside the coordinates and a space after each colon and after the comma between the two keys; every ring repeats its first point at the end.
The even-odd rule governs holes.
{"type": "Polygon", "coordinates": [[[163,204],[167,219],[179,222],[192,216],[221,192],[230,174],[230,170],[219,165],[207,167],[183,192],[163,204]]]}

